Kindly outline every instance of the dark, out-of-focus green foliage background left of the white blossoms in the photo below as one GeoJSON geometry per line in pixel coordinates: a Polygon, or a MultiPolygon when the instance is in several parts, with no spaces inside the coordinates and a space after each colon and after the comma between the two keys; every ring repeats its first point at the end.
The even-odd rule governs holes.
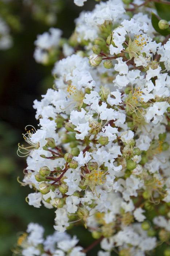
{"type": "MultiPolygon", "coordinates": [[[[37,34],[56,27],[68,38],[74,30],[74,19],[82,10],[92,10],[95,1],[78,7],[73,0],[0,0],[0,40],[2,20],[8,26],[10,42],[0,45],[0,255],[11,256],[17,243],[17,234],[25,231],[29,222],[37,222],[54,232],[54,211],[45,207],[34,208],[25,202],[31,193],[21,187],[17,177],[23,179],[26,158],[17,156],[17,144],[23,143],[26,125],[37,127],[34,99],[52,87],[53,65],[43,66],[33,59],[37,34]],[[9,48],[7,46],[9,44],[9,48]],[[8,48],[8,49],[6,49],[8,48]]],[[[69,231],[86,248],[94,241],[84,227],[69,231]],[[81,234],[81,235],[80,235],[81,234]]],[[[94,251],[88,255],[96,255],[94,251]]]]}

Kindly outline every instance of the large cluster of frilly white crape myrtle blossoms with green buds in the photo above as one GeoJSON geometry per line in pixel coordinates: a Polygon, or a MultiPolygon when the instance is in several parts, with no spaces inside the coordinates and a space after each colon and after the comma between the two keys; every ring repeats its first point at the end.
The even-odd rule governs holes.
{"type": "MultiPolygon", "coordinates": [[[[28,155],[21,184],[36,189],[28,204],[55,208],[60,233],[83,224],[101,241],[99,256],[144,256],[170,237],[170,39],[151,25],[151,7],[137,12],[134,1],[126,12],[124,2],[101,1],[76,19],[66,42],[75,52],[55,63],[53,89],[33,105],[40,128],[27,128],[31,147],[18,151],[28,155]]],[[[35,51],[59,49],[60,31],[50,32],[35,51]]],[[[37,245],[48,250],[58,232],[37,245]]],[[[50,255],[65,255],[59,249],[50,255]]]]}

